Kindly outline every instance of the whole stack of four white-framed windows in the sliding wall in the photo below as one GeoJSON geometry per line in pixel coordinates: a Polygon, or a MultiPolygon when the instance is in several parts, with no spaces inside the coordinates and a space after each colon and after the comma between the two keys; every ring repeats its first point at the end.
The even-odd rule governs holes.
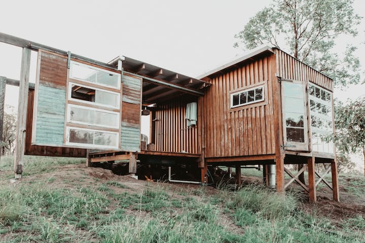
{"type": "Polygon", "coordinates": [[[66,144],[118,149],[121,74],[71,61],[67,85],[66,144]]]}

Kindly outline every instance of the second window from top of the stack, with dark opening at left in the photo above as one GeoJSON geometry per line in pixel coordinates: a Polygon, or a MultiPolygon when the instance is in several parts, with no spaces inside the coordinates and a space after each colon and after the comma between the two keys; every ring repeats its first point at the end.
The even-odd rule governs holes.
{"type": "Polygon", "coordinates": [[[120,93],[69,83],[68,98],[82,103],[120,107],[120,93]]]}

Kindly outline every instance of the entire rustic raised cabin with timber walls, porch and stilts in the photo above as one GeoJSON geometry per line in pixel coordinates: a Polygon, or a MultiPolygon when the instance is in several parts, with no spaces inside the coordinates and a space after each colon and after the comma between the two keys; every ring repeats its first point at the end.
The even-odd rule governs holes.
{"type": "Polygon", "coordinates": [[[132,176],[139,164],[164,165],[169,181],[189,183],[208,183],[208,167],[227,166],[240,185],[241,167],[259,166],[279,192],[296,182],[316,201],[323,182],[339,200],[335,146],[323,140],[334,132],[333,80],[278,48],[263,46],[190,77],[125,56],[103,63],[4,33],[0,42],[23,48],[20,80],[0,78],[20,86],[18,178],[24,154],[85,157],[89,166],[127,160],[132,176]],[[34,87],[30,51],[38,52],[34,87]],[[148,140],[142,126],[150,127],[148,140]],[[315,164],[324,164],[324,175],[331,171],[332,182],[315,164]],[[200,179],[173,178],[174,165],[200,179]]]}

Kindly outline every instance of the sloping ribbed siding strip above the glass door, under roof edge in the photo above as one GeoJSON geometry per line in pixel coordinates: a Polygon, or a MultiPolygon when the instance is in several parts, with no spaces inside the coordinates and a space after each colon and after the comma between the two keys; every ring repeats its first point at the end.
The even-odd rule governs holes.
{"type": "Polygon", "coordinates": [[[333,80],[319,71],[311,68],[296,58],[285,52],[275,49],[276,54],[276,73],[284,79],[309,81],[329,91],[333,91],[333,80]]]}

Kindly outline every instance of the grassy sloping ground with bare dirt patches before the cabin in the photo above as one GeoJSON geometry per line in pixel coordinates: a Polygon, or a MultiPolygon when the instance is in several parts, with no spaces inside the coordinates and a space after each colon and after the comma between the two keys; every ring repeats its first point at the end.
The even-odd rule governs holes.
{"type": "MultiPolygon", "coordinates": [[[[15,183],[12,158],[0,161],[1,242],[365,242],[363,214],[334,218],[300,192],[137,181],[82,159],[26,159],[15,183]]],[[[363,200],[365,179],[340,182],[363,200]]]]}

